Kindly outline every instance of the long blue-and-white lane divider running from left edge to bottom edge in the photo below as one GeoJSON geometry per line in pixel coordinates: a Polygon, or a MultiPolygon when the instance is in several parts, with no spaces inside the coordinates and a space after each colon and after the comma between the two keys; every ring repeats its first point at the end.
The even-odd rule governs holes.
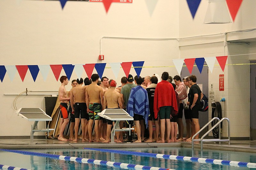
{"type": "MultiPolygon", "coordinates": [[[[129,169],[142,169],[142,170],[174,170],[174,169],[166,169],[166,168],[159,168],[154,166],[143,166],[143,165],[134,165],[134,164],[126,164],[126,163],[119,163],[119,162],[112,162],[112,161],[103,161],[97,159],[86,159],[86,158],[77,158],[77,157],[70,157],[70,156],[63,156],[63,155],[55,155],[55,154],[48,154],[48,153],[38,153],[38,152],[28,152],[28,151],[17,151],[17,150],[10,150],[10,149],[0,149],[1,151],[5,152],[13,152],[13,153],[20,153],[24,155],[34,155],[46,158],[53,158],[53,159],[60,159],[60,160],[68,160],[74,161],[79,163],[90,163],[90,164],[98,164],[104,166],[114,166],[118,168],[129,168],[129,169]]],[[[15,169],[16,170],[16,169],[15,169]]],[[[25,169],[22,169],[25,170],[25,169]]]]}

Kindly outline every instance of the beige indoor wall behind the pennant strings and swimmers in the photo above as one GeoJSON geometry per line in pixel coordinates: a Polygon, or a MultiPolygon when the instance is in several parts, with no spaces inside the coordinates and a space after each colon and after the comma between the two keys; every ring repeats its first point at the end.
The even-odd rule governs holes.
{"type": "MultiPolygon", "coordinates": [[[[159,0],[152,16],[144,0],[134,0],[133,4],[111,4],[108,14],[102,3],[67,2],[64,10],[61,10],[58,1],[22,0],[18,4],[16,0],[1,0],[0,65],[100,63],[97,58],[99,54],[103,54],[106,67],[110,67],[108,63],[114,62],[145,61],[144,66],[147,67],[141,71],[141,76],[145,77],[154,73],[161,75],[163,71],[176,75],[177,71],[172,59],[256,53],[255,44],[239,45],[238,48],[235,45],[224,44],[225,32],[256,28],[256,21],[252,18],[256,15],[256,11],[252,8],[255,6],[255,0],[244,1],[236,21],[223,25],[203,24],[207,2],[201,1],[193,20],[186,0],[159,0]],[[217,35],[182,38],[205,34],[217,35]],[[179,37],[179,41],[175,40],[179,37]],[[152,66],[167,67],[152,68],[152,66]]],[[[255,31],[227,34],[227,40],[248,37],[255,38],[255,31]]],[[[228,57],[227,63],[248,63],[249,59],[256,59],[256,55],[248,55],[245,58],[244,56],[228,57]]],[[[218,76],[222,70],[217,66],[217,61],[215,64],[213,73],[209,73],[209,84],[214,83],[216,100],[219,100],[223,95],[218,91],[218,76]]],[[[249,136],[248,125],[245,125],[249,119],[246,117],[249,110],[244,109],[242,103],[237,103],[240,105],[240,110],[236,110],[239,112],[237,114],[233,114],[231,108],[235,104],[232,103],[233,100],[238,102],[237,99],[241,96],[249,95],[249,89],[232,86],[234,82],[231,78],[248,76],[247,67],[228,65],[224,71],[227,102],[223,103],[223,112],[232,119],[232,137],[249,136]],[[239,73],[237,70],[245,72],[239,73]],[[239,94],[233,95],[232,91],[239,91],[239,94]],[[238,125],[237,121],[241,116],[243,120],[241,119],[238,125]],[[238,132],[237,128],[243,130],[238,132]]],[[[93,73],[96,73],[96,70],[93,73]]],[[[131,74],[136,75],[133,68],[131,74]]],[[[61,75],[65,75],[64,70],[61,75]]],[[[115,79],[109,68],[105,69],[103,76],[115,79]]],[[[117,82],[123,76],[124,72],[120,69],[117,82]]],[[[82,77],[86,77],[85,72],[82,77]]],[[[76,73],[73,72],[71,80],[75,78],[77,78],[76,73]]],[[[0,128],[4,129],[0,131],[0,136],[29,136],[33,124],[15,115],[16,110],[12,102],[16,96],[4,94],[19,94],[26,88],[58,90],[59,86],[60,82],[56,81],[51,70],[45,82],[40,72],[36,82],[33,81],[29,71],[24,82],[21,81],[18,72],[13,82],[6,73],[3,83],[0,83],[2,106],[0,128]]],[[[71,85],[66,88],[69,90],[71,85]]],[[[243,98],[247,99],[248,96],[243,98]]],[[[17,107],[44,109],[44,96],[21,96],[17,100],[17,107]]],[[[44,126],[44,122],[39,123],[39,128],[44,126]]]]}

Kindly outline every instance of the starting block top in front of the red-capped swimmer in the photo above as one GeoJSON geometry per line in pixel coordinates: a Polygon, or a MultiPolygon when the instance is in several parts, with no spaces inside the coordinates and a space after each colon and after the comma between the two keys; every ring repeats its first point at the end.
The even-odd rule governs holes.
{"type": "Polygon", "coordinates": [[[111,121],[133,121],[133,117],[124,109],[104,109],[98,115],[111,121]]]}

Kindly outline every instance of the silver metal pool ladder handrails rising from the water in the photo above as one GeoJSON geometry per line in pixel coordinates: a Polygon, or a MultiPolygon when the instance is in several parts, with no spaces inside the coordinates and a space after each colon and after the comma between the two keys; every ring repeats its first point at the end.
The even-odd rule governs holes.
{"type": "Polygon", "coordinates": [[[210,120],[206,125],[204,125],[203,128],[201,128],[198,132],[196,132],[196,134],[192,137],[192,156],[194,155],[194,141],[201,141],[201,156],[203,154],[203,142],[227,142],[228,141],[228,145],[230,145],[230,121],[228,118],[223,117],[221,120],[218,117],[214,117],[212,118],[212,120],[210,120]],[[194,139],[196,137],[196,135],[198,135],[200,132],[202,132],[210,123],[212,123],[212,121],[214,120],[219,120],[219,122],[217,122],[210,130],[208,130],[202,137],[201,139],[194,139]],[[228,122],[228,139],[221,139],[220,136],[220,123],[223,122],[224,120],[227,120],[228,122]],[[217,126],[219,126],[219,139],[204,139],[204,137],[206,135],[208,135],[214,128],[216,128],[217,126]]]}

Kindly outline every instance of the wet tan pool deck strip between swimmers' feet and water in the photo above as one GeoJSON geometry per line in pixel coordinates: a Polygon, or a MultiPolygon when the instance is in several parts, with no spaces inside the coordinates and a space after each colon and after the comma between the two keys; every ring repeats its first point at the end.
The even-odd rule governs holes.
{"type": "MultiPolygon", "coordinates": [[[[60,148],[137,148],[137,147],[186,147],[191,148],[189,142],[173,142],[173,143],[96,143],[96,142],[78,142],[73,141],[59,141],[56,139],[34,139],[30,143],[30,139],[1,139],[0,149],[60,149],[60,148]]],[[[195,148],[200,149],[200,144],[195,144],[195,148]]],[[[230,141],[222,142],[205,142],[204,149],[223,150],[223,151],[237,151],[237,152],[251,152],[256,153],[256,141],[230,141]]]]}

